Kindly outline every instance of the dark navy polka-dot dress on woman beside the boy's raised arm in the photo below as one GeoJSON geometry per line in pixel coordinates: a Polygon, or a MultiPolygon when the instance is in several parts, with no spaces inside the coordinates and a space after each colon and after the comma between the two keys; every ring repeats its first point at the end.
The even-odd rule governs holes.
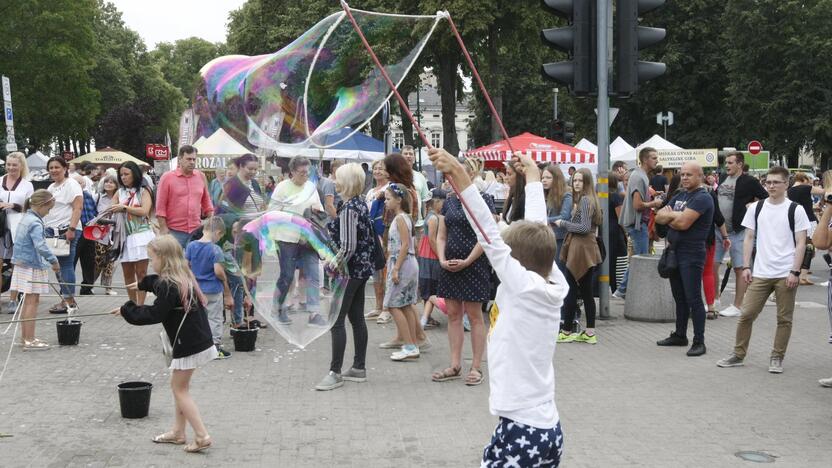
{"type": "MultiPolygon", "coordinates": [[[[494,197],[480,193],[486,205],[494,213],[494,197]]],[[[440,212],[445,217],[447,240],[445,241],[445,259],[465,260],[477,245],[477,235],[468,224],[465,211],[459,198],[448,196],[440,212]]],[[[491,296],[491,265],[488,257],[482,254],[471,266],[457,272],[439,270],[439,288],[437,296],[466,302],[485,302],[491,296]]]]}

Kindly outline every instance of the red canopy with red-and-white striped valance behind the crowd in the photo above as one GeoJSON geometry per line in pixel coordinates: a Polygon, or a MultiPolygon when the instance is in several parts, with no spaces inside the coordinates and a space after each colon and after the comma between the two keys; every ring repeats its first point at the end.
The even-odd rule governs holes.
{"type": "MultiPolygon", "coordinates": [[[[523,152],[537,162],[555,164],[595,164],[595,155],[589,151],[557,141],[548,140],[531,133],[522,133],[509,140],[501,140],[465,153],[469,157],[482,158],[488,162],[502,162],[511,158],[511,148],[523,152]],[[509,145],[508,142],[511,142],[509,145]]],[[[493,165],[493,164],[492,164],[493,165]]]]}

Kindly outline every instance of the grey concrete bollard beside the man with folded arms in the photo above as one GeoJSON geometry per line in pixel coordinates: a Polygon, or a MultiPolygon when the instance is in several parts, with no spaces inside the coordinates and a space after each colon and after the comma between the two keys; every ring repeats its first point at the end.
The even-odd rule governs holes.
{"type": "Polygon", "coordinates": [[[658,264],[658,255],[630,258],[625,318],[640,322],[676,321],[676,303],[670,292],[670,281],[659,276],[658,264]]]}

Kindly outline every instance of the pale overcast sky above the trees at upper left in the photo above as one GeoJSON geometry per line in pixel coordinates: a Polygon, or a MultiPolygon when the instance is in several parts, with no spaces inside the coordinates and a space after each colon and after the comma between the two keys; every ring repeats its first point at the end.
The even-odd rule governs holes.
{"type": "Polygon", "coordinates": [[[127,27],[138,32],[148,50],[159,42],[201,37],[225,42],[228,13],[245,0],[108,0],[123,14],[127,27]]]}

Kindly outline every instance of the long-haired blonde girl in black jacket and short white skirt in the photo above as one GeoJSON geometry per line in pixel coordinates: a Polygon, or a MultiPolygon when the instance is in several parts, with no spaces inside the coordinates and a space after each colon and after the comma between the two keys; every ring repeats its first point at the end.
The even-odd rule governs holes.
{"type": "MultiPolygon", "coordinates": [[[[148,275],[138,289],[153,292],[153,305],[136,305],[127,301],[121,314],[133,325],[161,323],[173,344],[171,389],[176,401],[173,429],[153,438],[160,444],[185,444],[185,423],[194,430],[194,442],[185,445],[186,452],[199,452],[211,446],[211,436],[202,423],[199,409],[188,390],[194,370],[217,357],[211,329],[205,315],[205,297],[199,290],[179,242],[170,235],[159,236],[147,245],[150,263],[158,275],[148,275]],[[180,328],[181,324],[181,328],[180,328]]],[[[136,287],[135,283],[132,285],[136,287]]],[[[129,287],[129,286],[128,286],[129,287]]]]}

